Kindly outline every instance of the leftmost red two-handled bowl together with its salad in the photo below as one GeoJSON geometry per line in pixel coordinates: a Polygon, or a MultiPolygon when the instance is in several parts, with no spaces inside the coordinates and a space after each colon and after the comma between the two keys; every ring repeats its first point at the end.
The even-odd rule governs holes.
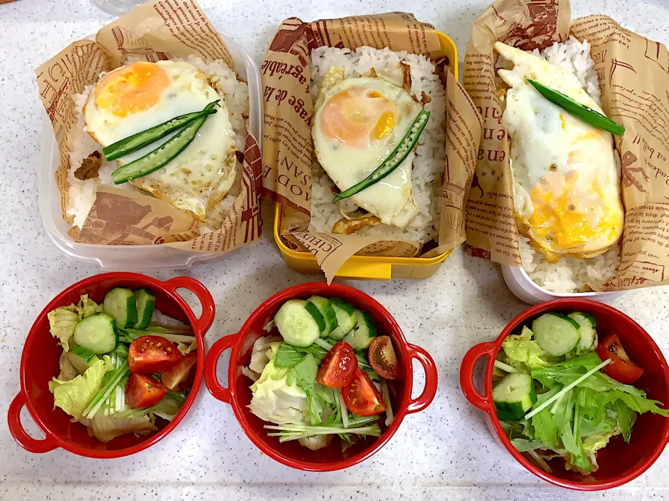
{"type": "Polygon", "coordinates": [[[29,452],[62,447],[96,459],[151,447],[195,400],[214,315],[211,294],[190,277],[116,272],[71,285],[26,337],[21,390],[8,411],[12,436],[29,452]],[[179,289],[197,296],[199,318],[179,289]],[[24,406],[45,438],[24,429],[24,406]]]}

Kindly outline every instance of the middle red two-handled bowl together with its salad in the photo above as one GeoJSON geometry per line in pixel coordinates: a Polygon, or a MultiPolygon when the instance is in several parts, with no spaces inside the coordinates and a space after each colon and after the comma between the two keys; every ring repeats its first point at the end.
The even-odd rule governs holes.
{"type": "Polygon", "coordinates": [[[377,452],[437,389],[429,353],[385,308],[347,285],[307,283],[262,303],[208,352],[210,393],[230,404],[252,442],[291,468],[334,471],[377,452]],[[216,370],[231,349],[227,387],[216,370]],[[412,360],[425,371],[411,397],[412,360]]]}

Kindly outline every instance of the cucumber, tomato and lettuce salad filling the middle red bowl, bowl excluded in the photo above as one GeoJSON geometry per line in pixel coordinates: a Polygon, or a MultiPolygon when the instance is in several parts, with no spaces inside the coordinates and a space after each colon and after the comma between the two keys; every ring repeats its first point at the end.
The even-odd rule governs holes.
{"type": "Polygon", "coordinates": [[[268,436],[311,450],[338,437],[346,451],[390,425],[402,371],[368,312],[336,297],[290,299],[266,330],[242,372],[253,381],[249,410],[269,423],[268,436]]]}

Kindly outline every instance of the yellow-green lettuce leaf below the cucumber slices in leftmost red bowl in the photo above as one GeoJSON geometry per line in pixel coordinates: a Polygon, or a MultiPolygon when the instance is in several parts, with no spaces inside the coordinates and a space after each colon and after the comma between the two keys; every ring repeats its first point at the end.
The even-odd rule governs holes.
{"type": "Polygon", "coordinates": [[[102,387],[107,371],[114,369],[111,358],[105,356],[70,381],[53,379],[49,381],[49,391],[54,394],[54,408],[60,407],[79,420],[90,401],[102,387]]]}

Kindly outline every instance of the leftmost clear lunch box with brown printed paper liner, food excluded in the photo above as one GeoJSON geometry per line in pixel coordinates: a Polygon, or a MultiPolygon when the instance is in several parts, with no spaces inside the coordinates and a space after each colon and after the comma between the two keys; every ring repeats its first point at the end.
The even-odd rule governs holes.
{"type": "MultiPolygon", "coordinates": [[[[105,270],[129,267],[144,270],[183,269],[197,262],[221,258],[229,250],[256,241],[261,235],[260,186],[256,178],[261,173],[263,102],[258,67],[243,47],[224,35],[220,35],[220,42],[208,40],[198,50],[184,49],[179,44],[171,45],[174,41],[169,40],[169,31],[158,29],[163,22],[169,22],[157,17],[153,3],[155,2],[149,1],[102,28],[98,33],[98,42],[95,42],[95,37],[74,42],[37,70],[40,97],[47,112],[38,170],[40,214],[45,232],[64,254],[82,262],[97,263],[105,270]],[[151,35],[153,28],[145,27],[151,22],[155,24],[156,32],[160,31],[160,36],[151,35]],[[149,33],[148,38],[137,34],[141,30],[149,33]],[[100,42],[102,33],[105,38],[100,42]],[[96,57],[102,57],[95,53],[101,50],[99,43],[112,44],[115,56],[121,61],[124,58],[133,61],[134,58],[155,63],[170,57],[186,58],[192,54],[206,58],[215,54],[213,59],[229,57],[233,62],[238,79],[248,86],[249,115],[245,117],[245,141],[238,134],[242,145],[237,145],[236,169],[238,177],[242,179],[241,192],[229,212],[222,213],[221,229],[214,228],[211,232],[203,233],[198,229],[198,220],[191,212],[178,210],[167,202],[149,196],[148,191],[112,189],[107,188],[107,184],[98,185],[97,199],[86,216],[86,221],[80,227],[72,225],[72,216],[66,214],[69,185],[63,187],[63,183],[69,181],[67,172],[63,173],[63,165],[70,164],[69,160],[66,163],[69,148],[69,143],[66,144],[66,131],[78,127],[72,125],[75,106],[78,106],[73,99],[77,90],[71,90],[75,87],[75,81],[56,70],[66,64],[63,63],[63,58],[67,61],[70,53],[76,54],[83,50],[82,47],[96,57]],[[166,47],[171,47],[171,52],[166,47]],[[207,54],[208,50],[211,54],[207,54]],[[100,186],[104,187],[102,199],[100,186]]],[[[172,7],[174,6],[156,8],[160,10],[172,7]]],[[[197,3],[192,8],[195,9],[194,13],[197,11],[198,17],[208,23],[197,3]]],[[[211,29],[219,35],[213,26],[211,29]]],[[[200,32],[192,35],[195,39],[203,36],[200,32]]],[[[101,63],[98,61],[98,64],[101,63]]],[[[82,76],[82,81],[87,85],[94,84],[100,72],[96,69],[91,76],[93,70],[87,67],[77,67],[76,70],[82,73],[88,71],[85,77],[82,76]]],[[[83,84],[77,84],[81,85],[83,84]]],[[[76,132],[75,130],[72,134],[76,132]]],[[[72,166],[71,170],[74,168],[72,166]]]]}

